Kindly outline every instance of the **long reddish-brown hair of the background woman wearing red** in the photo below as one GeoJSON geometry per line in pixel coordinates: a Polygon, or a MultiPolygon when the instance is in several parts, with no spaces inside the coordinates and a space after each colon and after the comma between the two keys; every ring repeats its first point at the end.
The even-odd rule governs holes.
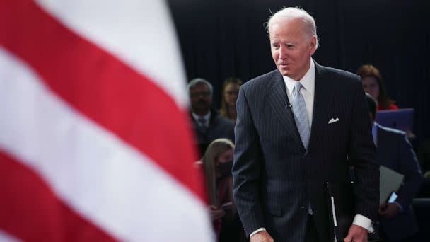
{"type": "Polygon", "coordinates": [[[357,70],[357,75],[361,76],[361,79],[368,76],[373,76],[378,82],[379,96],[378,105],[382,109],[389,109],[391,104],[394,104],[394,100],[388,98],[388,93],[385,90],[385,84],[378,68],[373,67],[371,64],[364,64],[357,70]]]}

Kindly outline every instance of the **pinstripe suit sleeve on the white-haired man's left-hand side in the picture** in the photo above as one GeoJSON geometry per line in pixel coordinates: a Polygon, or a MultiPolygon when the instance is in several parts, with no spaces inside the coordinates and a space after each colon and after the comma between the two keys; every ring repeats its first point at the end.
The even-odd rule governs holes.
{"type": "Polygon", "coordinates": [[[262,154],[260,139],[243,88],[239,91],[236,110],[233,196],[245,234],[250,236],[252,231],[265,227],[260,202],[262,154]]]}

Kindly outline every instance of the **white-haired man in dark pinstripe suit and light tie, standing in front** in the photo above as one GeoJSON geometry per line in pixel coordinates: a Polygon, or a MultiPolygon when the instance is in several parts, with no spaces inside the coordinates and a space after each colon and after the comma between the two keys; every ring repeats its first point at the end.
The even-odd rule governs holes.
{"type": "Polygon", "coordinates": [[[330,241],[326,182],[350,185],[354,166],[345,241],[367,241],[379,171],[361,81],[313,61],[318,38],[306,11],[284,8],[267,29],[277,70],[245,83],[236,103],[233,194],[245,232],[252,242],[330,241]]]}

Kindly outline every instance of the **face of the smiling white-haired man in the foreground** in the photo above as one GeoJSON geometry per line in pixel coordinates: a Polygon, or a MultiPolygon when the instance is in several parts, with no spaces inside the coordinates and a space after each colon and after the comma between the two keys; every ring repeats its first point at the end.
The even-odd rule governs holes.
{"type": "Polygon", "coordinates": [[[283,76],[300,80],[310,67],[316,50],[316,37],[306,38],[300,19],[277,21],[269,28],[272,57],[283,76]]]}

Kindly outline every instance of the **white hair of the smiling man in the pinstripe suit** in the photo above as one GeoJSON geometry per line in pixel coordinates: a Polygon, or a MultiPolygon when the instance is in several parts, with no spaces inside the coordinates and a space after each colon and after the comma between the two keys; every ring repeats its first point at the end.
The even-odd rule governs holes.
{"type": "Polygon", "coordinates": [[[305,27],[305,31],[307,33],[307,39],[310,40],[313,36],[317,38],[317,43],[315,46],[315,50],[318,49],[319,43],[318,43],[318,35],[317,35],[317,27],[315,25],[315,19],[313,16],[310,16],[308,12],[305,10],[299,8],[298,6],[294,8],[282,8],[281,10],[277,11],[276,13],[273,13],[272,16],[269,17],[269,20],[266,24],[266,30],[269,34],[270,25],[275,22],[279,21],[292,21],[294,19],[301,19],[303,22],[303,26],[305,27]]]}

